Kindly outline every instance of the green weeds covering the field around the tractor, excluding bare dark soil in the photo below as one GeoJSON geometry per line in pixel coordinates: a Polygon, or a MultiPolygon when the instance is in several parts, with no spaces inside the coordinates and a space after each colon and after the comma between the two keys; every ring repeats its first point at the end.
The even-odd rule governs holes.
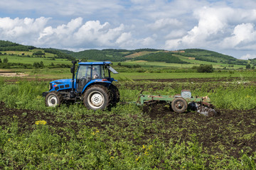
{"type": "MultiPolygon", "coordinates": [[[[229,84],[228,87],[223,87],[225,82],[199,85],[184,83],[182,86],[194,89],[198,95],[209,95],[218,108],[255,107],[255,86],[229,84]]],[[[181,84],[175,82],[152,84],[149,81],[122,81],[118,86],[122,101],[136,99],[141,87],[156,94],[168,94],[170,91],[178,93],[182,88],[181,84]]],[[[37,114],[23,110],[19,118],[15,114],[1,117],[1,123],[4,123],[4,127],[0,128],[1,168],[255,169],[256,167],[254,161],[256,154],[247,155],[244,151],[236,150],[240,156],[235,158],[228,154],[227,149],[220,145],[220,142],[214,144],[219,152],[209,154],[208,147],[213,146],[202,147],[198,142],[198,137],[201,137],[203,130],[209,128],[208,125],[218,126],[223,134],[228,133],[228,130],[234,132],[232,129],[225,129],[233,124],[224,128],[223,120],[218,117],[205,118],[194,114],[196,118],[192,119],[186,117],[186,114],[181,114],[179,117],[170,113],[164,118],[170,118],[171,122],[165,122],[164,118],[154,119],[142,114],[142,110],[134,105],[118,104],[112,108],[112,111],[96,112],[88,111],[79,104],[70,106],[63,104],[58,108],[47,108],[41,96],[42,91],[47,90],[47,81],[17,81],[10,84],[5,83],[4,78],[0,78],[0,91],[4,91],[0,94],[0,101],[4,101],[6,106],[41,112],[37,114]],[[30,117],[34,117],[35,120],[42,118],[48,120],[46,125],[36,125],[34,121],[31,123],[26,121],[30,117]],[[203,126],[197,123],[201,119],[205,123],[203,126]],[[28,130],[23,131],[21,127],[28,130]],[[189,131],[193,127],[198,128],[196,134],[189,131]],[[189,135],[183,136],[186,130],[189,135]],[[174,134],[174,138],[164,138],[164,135],[170,133],[174,134]]],[[[241,125],[244,125],[245,129],[236,130],[247,130],[247,123],[241,125]]],[[[235,127],[238,128],[240,125],[235,127]]],[[[241,135],[243,132],[238,131],[235,134],[241,135]]],[[[245,134],[240,138],[247,141],[252,137],[255,137],[255,134],[245,134]]],[[[226,139],[225,136],[220,137],[223,138],[226,139]]]]}

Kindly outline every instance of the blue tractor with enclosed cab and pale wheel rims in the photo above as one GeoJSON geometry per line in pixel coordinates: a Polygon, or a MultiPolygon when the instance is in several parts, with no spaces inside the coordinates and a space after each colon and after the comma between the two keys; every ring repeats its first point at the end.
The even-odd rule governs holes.
{"type": "Polygon", "coordinates": [[[110,77],[110,72],[118,74],[110,64],[111,62],[79,62],[75,74],[75,64],[70,72],[72,79],[59,79],[50,82],[49,91],[43,92],[46,97],[46,106],[58,106],[63,101],[84,103],[92,110],[104,110],[119,102],[120,94],[110,77]]]}

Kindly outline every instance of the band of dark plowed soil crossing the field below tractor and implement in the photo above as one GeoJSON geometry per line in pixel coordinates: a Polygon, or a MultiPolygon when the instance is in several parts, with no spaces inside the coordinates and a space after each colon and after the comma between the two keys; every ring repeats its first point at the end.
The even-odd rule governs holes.
{"type": "MultiPolygon", "coordinates": [[[[241,149],[249,155],[256,152],[255,110],[218,110],[218,115],[213,117],[206,117],[196,112],[174,113],[163,104],[146,106],[142,110],[143,115],[129,115],[129,120],[121,115],[102,113],[102,115],[83,114],[80,118],[83,121],[80,123],[74,121],[70,115],[63,123],[54,113],[6,108],[5,104],[0,102],[0,126],[5,128],[14,120],[18,120],[18,132],[22,133],[34,130],[36,120],[46,120],[60,136],[66,135],[63,128],[72,128],[78,132],[82,125],[99,130],[122,129],[130,132],[130,140],[141,145],[132,137],[136,130],[134,125],[139,125],[143,132],[142,139],[139,140],[142,143],[156,136],[168,143],[170,139],[174,139],[174,142],[188,141],[191,140],[191,135],[196,135],[204,152],[209,154],[225,153],[238,158],[241,149]]],[[[111,135],[111,132],[109,133],[111,135]]],[[[65,137],[69,138],[68,135],[65,137]]],[[[112,137],[114,140],[122,138],[122,136],[112,137]]]]}

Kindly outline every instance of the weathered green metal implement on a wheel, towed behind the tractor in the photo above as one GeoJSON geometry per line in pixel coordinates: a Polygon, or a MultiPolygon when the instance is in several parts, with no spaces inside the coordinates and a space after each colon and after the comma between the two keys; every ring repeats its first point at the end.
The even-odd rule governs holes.
{"type": "Polygon", "coordinates": [[[194,97],[191,96],[191,91],[189,90],[183,90],[181,91],[181,95],[178,94],[175,96],[145,95],[142,94],[141,91],[141,94],[139,95],[138,100],[135,103],[137,104],[137,106],[144,106],[159,101],[164,101],[169,104],[176,113],[183,113],[186,111],[188,106],[190,106],[191,109],[197,110],[198,113],[201,113],[203,115],[216,114],[214,106],[210,103],[210,98],[208,98],[208,96],[194,97]]]}

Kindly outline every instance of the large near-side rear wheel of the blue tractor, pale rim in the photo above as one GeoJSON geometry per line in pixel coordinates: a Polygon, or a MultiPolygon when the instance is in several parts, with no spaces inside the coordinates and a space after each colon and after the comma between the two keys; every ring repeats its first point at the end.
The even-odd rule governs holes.
{"type": "Polygon", "coordinates": [[[92,110],[104,110],[110,102],[110,94],[105,86],[91,86],[83,95],[83,103],[92,110]]]}

